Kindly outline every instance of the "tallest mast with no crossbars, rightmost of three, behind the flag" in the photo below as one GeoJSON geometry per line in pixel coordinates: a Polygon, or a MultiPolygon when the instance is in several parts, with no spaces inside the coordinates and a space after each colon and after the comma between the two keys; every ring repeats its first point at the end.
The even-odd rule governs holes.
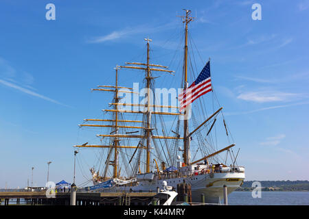
{"type": "MultiPolygon", "coordinates": [[[[184,58],[184,85],[183,88],[187,88],[187,25],[192,21],[192,17],[190,17],[191,11],[185,10],[185,16],[182,16],[183,23],[185,23],[185,58],[184,58]]],[[[187,110],[185,110],[185,115],[187,115],[187,110]]],[[[190,164],[190,136],[189,136],[189,126],[188,126],[188,120],[185,118],[183,120],[183,162],[187,166],[190,164]]]]}

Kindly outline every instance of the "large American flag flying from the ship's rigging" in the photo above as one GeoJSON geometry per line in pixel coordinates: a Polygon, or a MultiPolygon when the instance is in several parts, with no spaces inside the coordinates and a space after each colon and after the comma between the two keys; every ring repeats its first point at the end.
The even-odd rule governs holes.
{"type": "Polygon", "coordinates": [[[181,105],[179,111],[182,112],[183,109],[187,107],[187,105],[193,103],[193,101],[198,99],[198,97],[206,94],[211,90],[210,65],[208,61],[200,75],[198,75],[190,87],[183,90],[183,92],[179,94],[178,99],[181,105]]]}

